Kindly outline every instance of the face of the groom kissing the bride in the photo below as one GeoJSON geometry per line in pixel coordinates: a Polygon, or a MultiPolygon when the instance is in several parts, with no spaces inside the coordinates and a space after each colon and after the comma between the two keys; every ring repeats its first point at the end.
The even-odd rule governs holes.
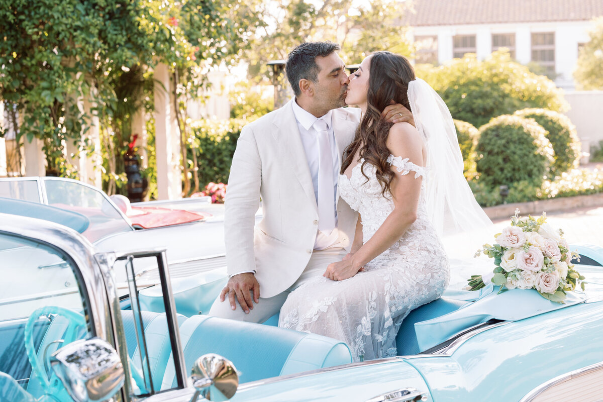
{"type": "Polygon", "coordinates": [[[315,86],[315,106],[327,110],[346,105],[347,78],[346,64],[333,52],[326,57],[315,58],[318,65],[318,82],[315,86]]]}

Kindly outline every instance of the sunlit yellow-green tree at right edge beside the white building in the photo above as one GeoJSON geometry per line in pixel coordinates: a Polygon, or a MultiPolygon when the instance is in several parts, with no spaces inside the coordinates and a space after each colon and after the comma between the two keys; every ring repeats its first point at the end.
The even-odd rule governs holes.
{"type": "Polygon", "coordinates": [[[590,40],[580,49],[573,76],[582,89],[603,89],[603,17],[596,20],[590,40]]]}

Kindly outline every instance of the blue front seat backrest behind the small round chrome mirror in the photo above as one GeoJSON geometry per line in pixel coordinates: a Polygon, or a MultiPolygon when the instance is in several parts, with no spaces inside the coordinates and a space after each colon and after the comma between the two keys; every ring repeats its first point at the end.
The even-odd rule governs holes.
{"type": "MultiPolygon", "coordinates": [[[[349,347],[332,338],[204,315],[180,326],[180,340],[187,368],[203,354],[217,353],[234,363],[242,383],[352,362],[349,347]]],[[[162,389],[175,385],[168,365],[162,389]]]]}

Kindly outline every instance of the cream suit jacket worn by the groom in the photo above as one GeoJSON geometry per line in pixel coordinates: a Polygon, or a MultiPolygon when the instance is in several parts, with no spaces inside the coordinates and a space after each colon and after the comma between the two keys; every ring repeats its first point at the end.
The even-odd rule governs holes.
{"type": "MultiPolygon", "coordinates": [[[[318,207],[292,102],[243,128],[228,181],[224,216],[227,271],[255,270],[262,298],[273,297],[295,283],[308,264],[317,235],[318,207]],[[263,216],[254,225],[260,198],[263,216]]],[[[333,110],[340,163],[359,119],[358,108],[333,110]]],[[[358,213],[339,198],[339,190],[336,208],[339,241],[349,251],[358,213]]]]}

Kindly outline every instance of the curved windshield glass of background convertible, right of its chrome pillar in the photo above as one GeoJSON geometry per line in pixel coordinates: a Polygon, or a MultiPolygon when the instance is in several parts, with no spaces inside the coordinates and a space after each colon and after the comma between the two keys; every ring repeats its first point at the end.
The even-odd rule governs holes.
{"type": "Polygon", "coordinates": [[[44,183],[48,205],[81,213],[90,220],[83,235],[91,242],[133,230],[101,190],[75,180],[44,178],[44,183]]]}

